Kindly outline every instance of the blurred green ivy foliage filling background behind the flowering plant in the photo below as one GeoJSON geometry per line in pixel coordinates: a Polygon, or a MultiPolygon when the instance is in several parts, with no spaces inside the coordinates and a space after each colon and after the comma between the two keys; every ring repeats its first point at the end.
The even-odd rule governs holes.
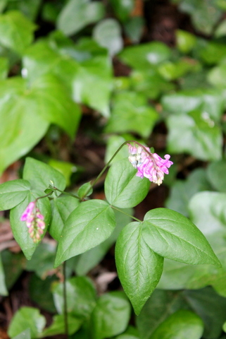
{"type": "MultiPolygon", "coordinates": [[[[0,79],[1,182],[20,177],[30,155],[62,172],[68,189],[76,190],[124,141],[142,141],[161,155],[170,153],[175,166],[163,188],[151,186],[135,215],[142,218],[145,204],[177,210],[206,235],[222,262],[213,268],[166,260],[158,290],[131,322],[130,305],[115,291],[113,244],[130,221],[119,218],[111,238],[68,263],[69,300],[84,286],[70,304],[71,338],[175,339],[179,328],[177,338],[226,338],[226,1],[1,0],[0,79]],[[105,287],[97,279],[104,273],[111,273],[105,287]],[[86,274],[101,292],[113,292],[97,298],[86,274]],[[172,335],[165,337],[168,328],[172,335]]],[[[123,157],[127,150],[115,160],[123,157]]],[[[96,197],[104,198],[101,183],[96,197]]],[[[22,308],[11,322],[11,338],[63,333],[56,243],[46,239],[25,261],[11,239],[7,213],[1,220],[3,328],[26,306],[41,309],[48,325],[51,314],[58,316],[44,330],[43,315],[22,308]],[[33,319],[29,333],[27,314],[33,319]]]]}

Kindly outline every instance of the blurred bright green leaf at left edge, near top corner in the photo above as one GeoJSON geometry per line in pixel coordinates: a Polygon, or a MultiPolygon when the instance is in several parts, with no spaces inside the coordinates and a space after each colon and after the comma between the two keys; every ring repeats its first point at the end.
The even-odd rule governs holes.
{"type": "Polygon", "coordinates": [[[0,15],[0,42],[19,54],[31,44],[35,29],[36,25],[20,11],[8,11],[0,15]]]}

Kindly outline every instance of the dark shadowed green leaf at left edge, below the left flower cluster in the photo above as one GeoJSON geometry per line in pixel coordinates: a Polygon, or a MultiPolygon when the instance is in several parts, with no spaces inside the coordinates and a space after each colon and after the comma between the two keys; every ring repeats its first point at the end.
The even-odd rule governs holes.
{"type": "Polygon", "coordinates": [[[23,273],[26,259],[22,252],[15,254],[6,249],[1,252],[1,260],[4,266],[6,287],[10,290],[23,273]]]}

